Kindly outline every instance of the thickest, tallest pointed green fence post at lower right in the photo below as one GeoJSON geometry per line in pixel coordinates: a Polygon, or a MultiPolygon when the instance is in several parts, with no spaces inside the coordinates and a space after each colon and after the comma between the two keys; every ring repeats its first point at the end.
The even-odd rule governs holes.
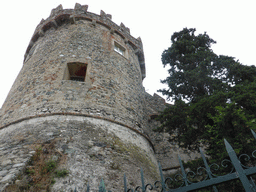
{"type": "Polygon", "coordinates": [[[242,182],[244,189],[246,192],[252,192],[253,186],[250,184],[247,176],[244,174],[244,169],[242,168],[240,161],[238,160],[236,153],[234,149],[231,147],[231,145],[227,142],[226,139],[224,139],[226,150],[228,152],[228,155],[232,161],[233,166],[236,169],[237,176],[239,177],[240,181],[242,182]]]}

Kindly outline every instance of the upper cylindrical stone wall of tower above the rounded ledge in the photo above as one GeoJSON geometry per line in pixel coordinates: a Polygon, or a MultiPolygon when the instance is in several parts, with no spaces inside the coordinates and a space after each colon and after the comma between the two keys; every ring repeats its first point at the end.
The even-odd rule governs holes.
{"type": "Polygon", "coordinates": [[[104,14],[57,12],[37,27],[3,104],[0,126],[46,113],[77,113],[106,117],[143,132],[141,42],[124,27],[115,29],[104,14]],[[77,18],[73,24],[65,20],[71,13],[77,18]],[[49,25],[53,21],[57,28],[49,25]],[[38,31],[43,35],[38,36],[38,31]],[[114,51],[114,41],[126,49],[127,57],[114,51]],[[69,62],[88,66],[85,82],[63,80],[69,62]]]}

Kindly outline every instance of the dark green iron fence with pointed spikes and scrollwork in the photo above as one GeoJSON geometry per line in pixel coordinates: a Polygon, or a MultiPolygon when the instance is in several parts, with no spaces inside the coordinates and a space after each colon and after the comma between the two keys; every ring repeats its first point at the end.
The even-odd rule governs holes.
{"type": "MultiPolygon", "coordinates": [[[[253,130],[252,134],[256,139],[256,134],[253,130]]],[[[256,174],[256,167],[245,165],[242,162],[250,161],[251,157],[256,159],[256,150],[252,152],[251,157],[247,154],[242,154],[239,157],[236,155],[232,146],[224,139],[226,150],[228,152],[230,159],[225,159],[221,162],[221,166],[217,164],[209,165],[205,158],[204,153],[200,149],[200,153],[204,162],[203,167],[197,169],[197,173],[193,171],[185,171],[181,158],[179,157],[181,173],[176,174],[173,177],[164,178],[162,173],[161,165],[159,164],[160,178],[161,180],[156,181],[153,184],[145,184],[143,170],[141,169],[141,185],[135,187],[134,189],[128,188],[126,176],[124,175],[124,192],[148,192],[148,191],[159,191],[159,192],[187,192],[197,189],[203,189],[206,187],[212,187],[214,192],[217,192],[217,184],[232,181],[240,180],[245,192],[256,192],[256,185],[252,179],[252,175],[256,174]],[[241,161],[243,159],[243,161],[241,161]],[[230,165],[230,172],[225,175],[218,176],[213,174],[213,172],[218,171],[221,167],[227,168],[230,165]],[[199,175],[201,178],[200,181],[195,181],[194,178],[199,175]],[[170,186],[179,185],[177,188],[172,189],[170,186]]],[[[77,192],[77,190],[75,189],[77,192]]],[[[87,185],[86,192],[90,191],[89,184],[87,185]]],[[[99,186],[99,192],[111,192],[107,191],[105,188],[104,181],[101,180],[99,186]]]]}

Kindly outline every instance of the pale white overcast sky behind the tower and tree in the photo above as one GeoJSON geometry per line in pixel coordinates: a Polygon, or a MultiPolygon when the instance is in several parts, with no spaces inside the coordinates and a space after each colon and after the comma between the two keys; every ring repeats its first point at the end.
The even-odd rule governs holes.
{"type": "Polygon", "coordinates": [[[196,28],[217,41],[213,51],[233,56],[246,65],[255,65],[256,11],[254,0],[5,0],[1,5],[0,106],[4,102],[22,64],[32,34],[42,18],[59,4],[64,9],[75,3],[89,5],[89,12],[100,10],[123,22],[131,35],[141,37],[146,78],[143,85],[153,94],[163,88],[160,79],[167,76],[161,54],[171,46],[174,32],[196,28]]]}

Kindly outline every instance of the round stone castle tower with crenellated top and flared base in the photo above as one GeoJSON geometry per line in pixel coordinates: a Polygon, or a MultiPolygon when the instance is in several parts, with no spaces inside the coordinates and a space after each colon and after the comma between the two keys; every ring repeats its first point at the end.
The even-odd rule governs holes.
{"type": "Polygon", "coordinates": [[[131,187],[140,184],[140,167],[148,181],[157,179],[141,39],[111,15],[87,9],[60,5],[36,27],[0,111],[0,189],[49,143],[45,154],[65,156],[59,166],[69,171],[52,190],[84,191],[87,183],[98,189],[103,178],[108,190],[120,192],[124,173],[131,187]]]}

